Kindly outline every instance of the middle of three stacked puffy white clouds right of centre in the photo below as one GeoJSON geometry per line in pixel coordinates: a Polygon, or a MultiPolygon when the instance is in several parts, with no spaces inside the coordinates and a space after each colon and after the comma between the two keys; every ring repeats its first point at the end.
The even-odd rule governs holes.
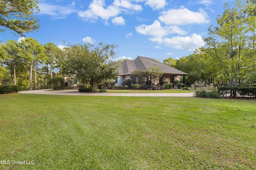
{"type": "Polygon", "coordinates": [[[177,26],[165,26],[162,27],[161,23],[158,20],[155,20],[152,25],[142,24],[140,26],[135,27],[136,31],[143,35],[150,35],[153,37],[164,37],[169,34],[179,34],[186,35],[187,32],[181,30],[177,26]]]}

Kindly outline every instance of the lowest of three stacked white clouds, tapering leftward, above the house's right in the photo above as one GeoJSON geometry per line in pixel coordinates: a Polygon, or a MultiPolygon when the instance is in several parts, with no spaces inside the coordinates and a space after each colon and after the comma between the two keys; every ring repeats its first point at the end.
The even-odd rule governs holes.
{"type": "Polygon", "coordinates": [[[198,34],[192,34],[186,37],[172,37],[172,38],[149,38],[150,41],[159,44],[164,44],[174,49],[185,49],[188,51],[194,51],[196,48],[204,46],[204,40],[202,36],[198,34]]]}

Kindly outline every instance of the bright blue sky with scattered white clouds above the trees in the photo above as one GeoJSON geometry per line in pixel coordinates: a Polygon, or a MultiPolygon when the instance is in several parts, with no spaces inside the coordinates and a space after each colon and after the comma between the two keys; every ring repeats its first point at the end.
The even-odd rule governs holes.
{"type": "MultiPolygon", "coordinates": [[[[115,61],[144,56],[159,59],[194,53],[205,45],[207,28],[216,25],[229,0],[39,0],[40,28],[26,33],[41,44],[118,45],[115,61]]],[[[20,41],[11,31],[0,42],[20,41]]]]}

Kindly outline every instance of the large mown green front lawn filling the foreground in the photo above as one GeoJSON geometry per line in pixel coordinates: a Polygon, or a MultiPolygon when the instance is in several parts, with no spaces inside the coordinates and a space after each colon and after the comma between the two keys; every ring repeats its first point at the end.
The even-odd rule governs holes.
{"type": "Polygon", "coordinates": [[[0,169],[256,169],[256,100],[0,95],[0,169]],[[3,163],[3,162],[2,162],[3,163]]]}

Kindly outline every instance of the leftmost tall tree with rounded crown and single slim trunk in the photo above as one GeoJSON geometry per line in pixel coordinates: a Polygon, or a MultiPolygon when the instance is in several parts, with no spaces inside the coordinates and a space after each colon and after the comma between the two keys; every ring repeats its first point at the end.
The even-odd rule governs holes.
{"type": "Polygon", "coordinates": [[[20,44],[15,40],[8,40],[6,43],[4,43],[3,48],[6,51],[6,59],[3,63],[6,64],[13,72],[14,85],[16,85],[17,67],[24,63],[20,44]]]}

